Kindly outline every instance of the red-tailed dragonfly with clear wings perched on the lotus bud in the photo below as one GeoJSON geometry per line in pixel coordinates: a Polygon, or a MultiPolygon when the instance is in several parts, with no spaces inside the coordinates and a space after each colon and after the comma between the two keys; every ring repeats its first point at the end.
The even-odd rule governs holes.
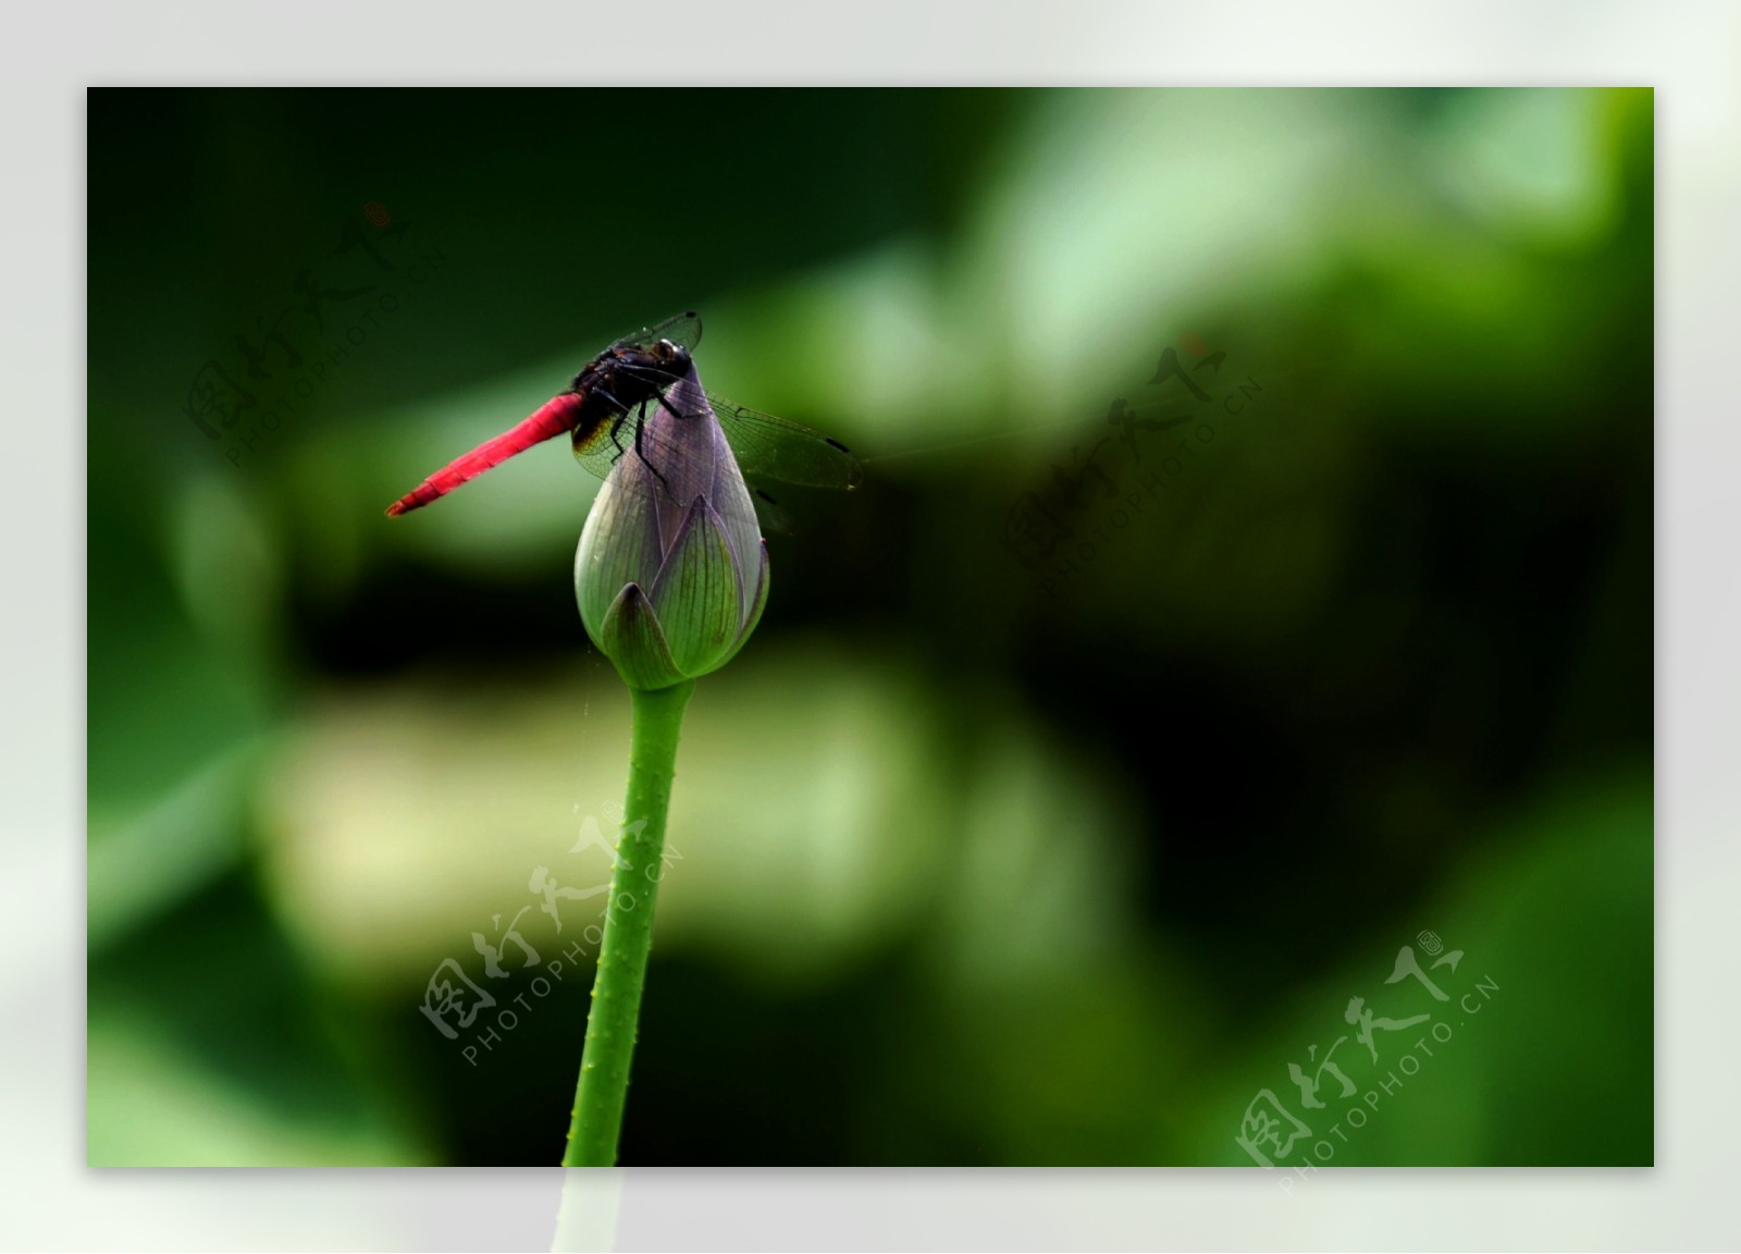
{"type": "MultiPolygon", "coordinates": [[[[609,475],[620,458],[639,456],[655,477],[663,481],[658,465],[660,449],[649,449],[653,441],[648,437],[646,420],[651,406],[663,406],[676,418],[696,416],[679,413],[669,392],[689,373],[700,341],[702,319],[695,312],[677,314],[616,340],[581,367],[568,390],[541,404],[515,427],[432,474],[388,505],[388,517],[423,509],[515,453],[524,453],[533,444],[564,432],[580,465],[601,479],[609,475]]],[[[858,458],[839,441],[712,392],[705,395],[745,477],[778,479],[810,488],[857,488],[864,482],[858,458]]],[[[771,498],[764,493],[757,496],[759,503],[771,505],[771,498]]],[[[770,514],[780,517],[776,507],[770,514]]]]}

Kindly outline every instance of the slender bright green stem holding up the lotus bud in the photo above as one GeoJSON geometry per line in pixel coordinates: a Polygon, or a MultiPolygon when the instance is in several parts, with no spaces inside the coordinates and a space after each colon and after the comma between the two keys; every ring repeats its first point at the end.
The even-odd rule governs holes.
{"type": "Polygon", "coordinates": [[[635,1050],[641,989],[653,949],[653,900],[663,876],[665,810],[677,763],[677,733],[693,691],[693,679],[658,691],[629,690],[634,702],[629,796],[623,801],[623,834],[616,843],[564,1167],[611,1167],[616,1162],[616,1137],[629,1097],[629,1059],[635,1050]]]}

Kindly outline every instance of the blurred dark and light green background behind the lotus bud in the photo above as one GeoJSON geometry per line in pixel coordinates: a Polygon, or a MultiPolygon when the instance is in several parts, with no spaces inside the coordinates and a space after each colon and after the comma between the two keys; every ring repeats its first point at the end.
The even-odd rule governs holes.
{"type": "Polygon", "coordinates": [[[625,1163],[1650,1163],[1652,195],[1649,91],[94,91],[91,1162],[557,1162],[597,484],[381,510],[698,308],[869,482],[691,704],[625,1163]]]}

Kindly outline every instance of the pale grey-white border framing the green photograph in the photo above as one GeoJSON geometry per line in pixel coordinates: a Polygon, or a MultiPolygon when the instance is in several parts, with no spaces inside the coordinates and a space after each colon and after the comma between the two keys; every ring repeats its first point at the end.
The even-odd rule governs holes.
{"type": "MultiPolygon", "coordinates": [[[[630,1172],[623,1249],[1706,1249],[1741,1127],[1741,7],[223,3],[14,7],[0,45],[0,1245],[540,1249],[561,1172],[92,1172],[84,1136],[84,89],[172,82],[1642,84],[1659,162],[1657,1167],[630,1172]],[[484,26],[487,23],[487,26],[484,26]],[[26,246],[37,240],[37,246],[26,246]],[[23,970],[23,975],[17,972],[23,970]]],[[[143,190],[148,193],[150,190],[143,190]]],[[[1640,1083],[1647,1078],[1640,1076],[1640,1083]]],[[[601,1183],[602,1184],[602,1183],[601,1183]]],[[[597,1203],[604,1207],[606,1203],[597,1203]]],[[[588,1210],[587,1214],[592,1214],[588,1210]]]]}

